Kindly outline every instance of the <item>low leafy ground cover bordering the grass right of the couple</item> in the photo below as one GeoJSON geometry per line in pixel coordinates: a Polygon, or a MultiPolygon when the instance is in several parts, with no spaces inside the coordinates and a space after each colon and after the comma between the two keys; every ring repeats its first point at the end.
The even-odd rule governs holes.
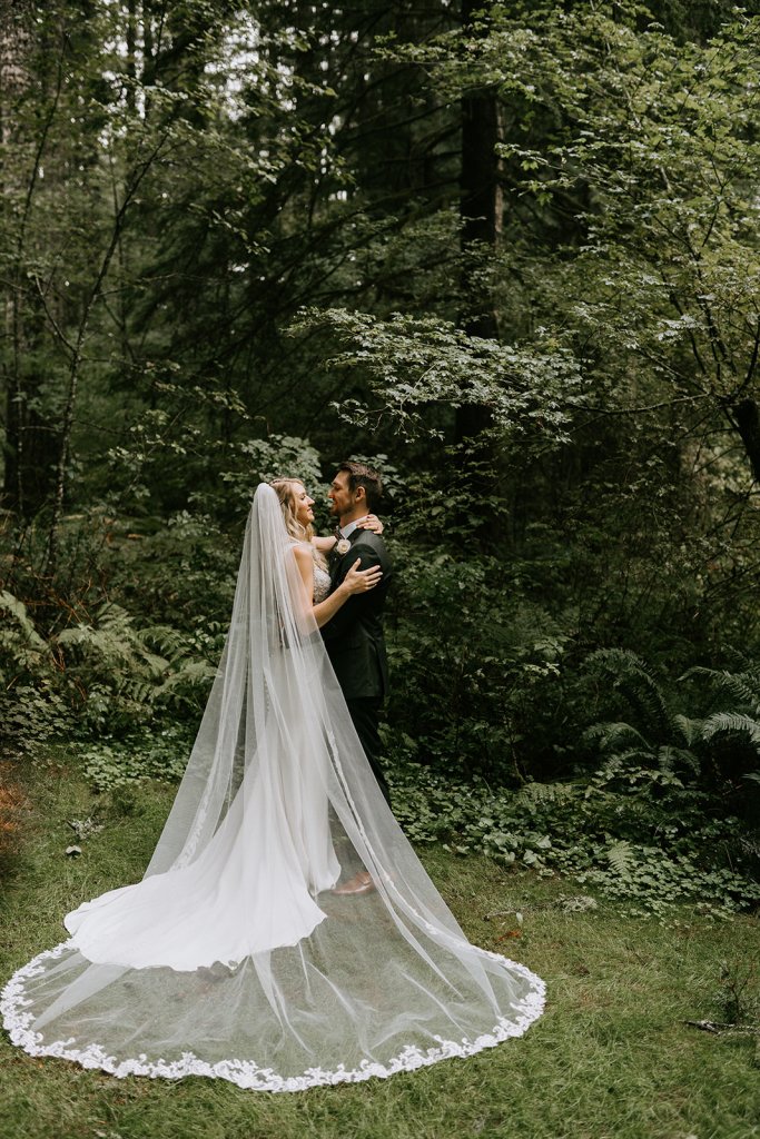
{"type": "Polygon", "coordinates": [[[738,820],[705,822],[704,802],[688,789],[663,803],[663,780],[645,769],[605,764],[588,781],[509,792],[407,762],[391,769],[390,782],[414,842],[570,875],[620,899],[630,915],[665,918],[692,901],[725,916],[760,903],[738,820]]]}

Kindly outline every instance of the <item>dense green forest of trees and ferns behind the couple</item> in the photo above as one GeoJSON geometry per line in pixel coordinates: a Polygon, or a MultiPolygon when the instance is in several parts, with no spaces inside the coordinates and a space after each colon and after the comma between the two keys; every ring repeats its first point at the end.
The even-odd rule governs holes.
{"type": "Polygon", "coordinates": [[[755,907],[752,6],[2,17],[8,872],[46,748],[125,811],[181,775],[256,484],[327,532],[359,458],[412,842],[755,907]]]}

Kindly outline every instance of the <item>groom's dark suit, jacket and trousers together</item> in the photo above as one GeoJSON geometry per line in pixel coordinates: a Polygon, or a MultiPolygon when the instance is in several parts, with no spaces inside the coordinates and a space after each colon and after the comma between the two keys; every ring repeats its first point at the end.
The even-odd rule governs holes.
{"type": "Polygon", "coordinates": [[[383,539],[370,530],[354,530],[349,541],[351,549],[343,556],[334,557],[330,564],[330,592],[337,589],[357,558],[361,558],[360,570],[379,566],[383,577],[379,585],[366,593],[352,593],[322,626],[322,637],[361,746],[390,803],[379,763],[382,746],[377,726],[387,693],[383,607],[392,575],[391,559],[383,539]]]}

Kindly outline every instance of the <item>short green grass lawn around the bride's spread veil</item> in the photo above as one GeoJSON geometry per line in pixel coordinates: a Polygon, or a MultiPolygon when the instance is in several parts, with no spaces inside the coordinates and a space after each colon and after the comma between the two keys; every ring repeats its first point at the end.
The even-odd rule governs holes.
{"type": "MultiPolygon", "coordinates": [[[[139,877],[172,789],[106,804],[105,829],[77,860],[66,819],[98,805],[65,756],[30,772],[26,843],[3,884],[0,975],[63,940],[62,915],[139,877]],[[125,813],[126,812],[126,813],[125,813]],[[130,813],[131,812],[131,813],[130,813]]],[[[758,919],[673,921],[551,902],[572,882],[425,851],[472,941],[524,961],[548,984],[545,1016],[518,1040],[467,1060],[358,1085],[272,1096],[223,1081],[114,1080],[34,1059],[0,1038],[0,1139],[760,1139],[760,1060],[751,1035],[712,1036],[686,1021],[726,1018],[725,981],[758,965],[758,919]],[[520,909],[514,918],[487,915],[520,909]]],[[[742,995],[758,1016],[757,972],[742,995]]]]}

